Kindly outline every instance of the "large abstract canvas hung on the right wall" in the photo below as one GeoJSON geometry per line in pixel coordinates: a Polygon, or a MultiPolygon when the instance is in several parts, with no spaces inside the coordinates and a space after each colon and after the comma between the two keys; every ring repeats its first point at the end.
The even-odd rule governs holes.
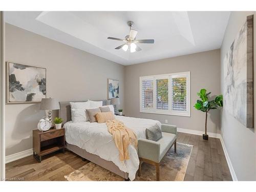
{"type": "Polygon", "coordinates": [[[224,58],[224,109],[253,127],[253,15],[247,16],[224,58]]]}

